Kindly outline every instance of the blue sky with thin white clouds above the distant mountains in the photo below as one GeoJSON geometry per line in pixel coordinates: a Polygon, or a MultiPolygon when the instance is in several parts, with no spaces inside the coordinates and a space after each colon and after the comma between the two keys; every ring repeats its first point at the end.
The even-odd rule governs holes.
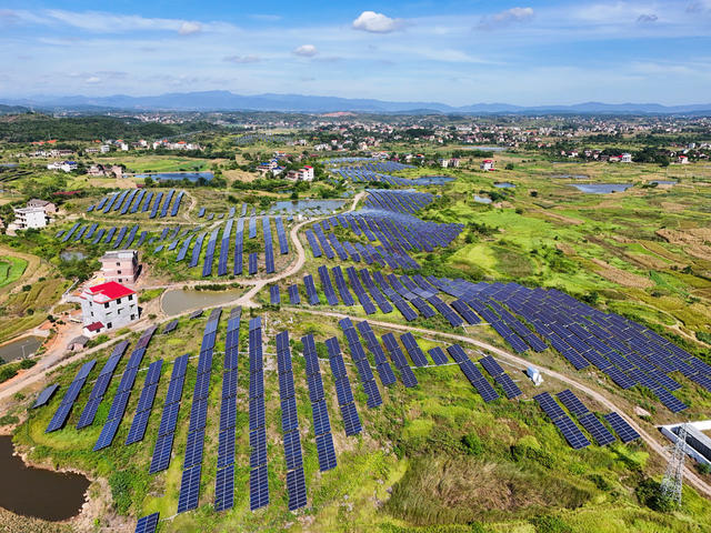
{"type": "Polygon", "coordinates": [[[0,97],[208,90],[709,103],[711,0],[0,0],[0,97]]]}

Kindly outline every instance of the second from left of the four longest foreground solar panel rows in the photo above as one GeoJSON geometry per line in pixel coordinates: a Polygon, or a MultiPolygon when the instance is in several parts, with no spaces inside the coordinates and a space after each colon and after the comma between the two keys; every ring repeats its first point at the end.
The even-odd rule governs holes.
{"type": "Polygon", "coordinates": [[[218,475],[214,485],[214,510],[234,506],[234,441],[237,431],[237,382],[242,308],[234,308],[227,322],[220,435],[218,440],[218,475]]]}

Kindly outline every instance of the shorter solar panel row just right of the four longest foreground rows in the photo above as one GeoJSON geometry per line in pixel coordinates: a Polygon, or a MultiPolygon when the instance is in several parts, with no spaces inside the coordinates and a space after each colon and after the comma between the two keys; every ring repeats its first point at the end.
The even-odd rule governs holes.
{"type": "Polygon", "coordinates": [[[331,421],[323,392],[321,368],[316,351],[313,335],[301,338],[303,344],[303,359],[306,361],[307,384],[309,385],[309,399],[311,400],[311,414],[313,416],[313,434],[316,447],[319,454],[319,469],[321,472],[334,469],[337,465],[333,435],[331,434],[331,421]]]}

